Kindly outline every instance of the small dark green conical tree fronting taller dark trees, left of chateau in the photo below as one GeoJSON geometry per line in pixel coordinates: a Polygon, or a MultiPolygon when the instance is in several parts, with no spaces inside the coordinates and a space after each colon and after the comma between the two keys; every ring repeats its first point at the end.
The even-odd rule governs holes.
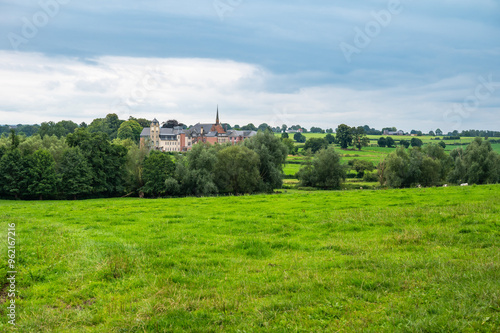
{"type": "Polygon", "coordinates": [[[92,192],[89,185],[92,180],[92,169],[79,147],[67,149],[59,164],[58,173],[61,177],[60,191],[72,196],[87,195],[92,192]]]}

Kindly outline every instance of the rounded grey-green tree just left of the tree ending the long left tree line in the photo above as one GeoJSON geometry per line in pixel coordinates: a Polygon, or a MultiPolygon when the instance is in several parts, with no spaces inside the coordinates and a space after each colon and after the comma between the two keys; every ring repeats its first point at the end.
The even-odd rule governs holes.
{"type": "Polygon", "coordinates": [[[216,179],[222,192],[242,194],[258,191],[259,155],[245,146],[230,146],[217,154],[216,179]]]}

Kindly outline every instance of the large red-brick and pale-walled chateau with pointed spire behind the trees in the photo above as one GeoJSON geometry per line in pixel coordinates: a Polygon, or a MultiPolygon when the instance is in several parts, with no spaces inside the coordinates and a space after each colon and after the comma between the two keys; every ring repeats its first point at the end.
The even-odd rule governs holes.
{"type": "Polygon", "coordinates": [[[209,144],[237,144],[248,139],[257,132],[226,130],[219,121],[219,108],[215,124],[198,123],[189,129],[184,126],[176,126],[168,122],[160,126],[156,119],[151,123],[151,127],[144,128],[141,133],[141,147],[148,146],[165,152],[182,152],[190,150],[193,145],[204,142],[209,144]]]}

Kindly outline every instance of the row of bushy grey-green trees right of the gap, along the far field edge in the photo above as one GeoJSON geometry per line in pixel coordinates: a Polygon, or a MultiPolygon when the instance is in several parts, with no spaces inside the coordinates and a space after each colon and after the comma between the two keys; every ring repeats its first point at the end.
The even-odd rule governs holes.
{"type": "Polygon", "coordinates": [[[391,188],[500,182],[500,154],[482,138],[475,138],[465,149],[457,148],[449,155],[439,144],[417,145],[411,149],[400,146],[378,164],[376,174],[370,173],[374,170],[371,162],[353,160],[343,165],[333,146],[321,147],[307,157],[297,178],[301,186],[341,189],[349,168],[366,181],[372,181],[377,175],[381,186],[391,188]]]}

